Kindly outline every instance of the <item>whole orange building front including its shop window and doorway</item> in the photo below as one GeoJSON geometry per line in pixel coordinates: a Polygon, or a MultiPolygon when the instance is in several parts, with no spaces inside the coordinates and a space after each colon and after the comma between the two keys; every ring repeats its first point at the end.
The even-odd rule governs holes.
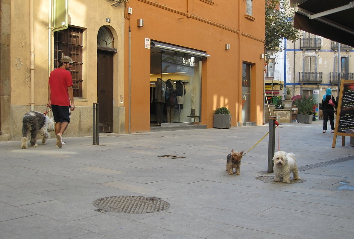
{"type": "Polygon", "coordinates": [[[230,109],[232,126],[242,121],[262,124],[263,95],[257,84],[263,78],[262,2],[252,8],[252,1],[242,0],[137,0],[129,7],[127,132],[191,121],[210,128],[215,109],[222,106],[230,109]],[[168,92],[162,99],[156,94],[161,87],[168,92]],[[171,92],[176,96],[172,106],[171,92]]]}

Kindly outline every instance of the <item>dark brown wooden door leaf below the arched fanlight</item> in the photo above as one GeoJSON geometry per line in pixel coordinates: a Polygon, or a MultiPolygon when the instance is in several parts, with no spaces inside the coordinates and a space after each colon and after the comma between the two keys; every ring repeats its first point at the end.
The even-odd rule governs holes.
{"type": "Polygon", "coordinates": [[[97,50],[99,133],[113,132],[113,53],[97,50]]]}

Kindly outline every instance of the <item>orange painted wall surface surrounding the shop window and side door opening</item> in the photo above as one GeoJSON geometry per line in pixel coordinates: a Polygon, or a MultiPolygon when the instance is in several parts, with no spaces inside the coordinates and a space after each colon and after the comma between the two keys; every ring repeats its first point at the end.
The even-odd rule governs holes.
{"type": "MultiPolygon", "coordinates": [[[[214,110],[228,107],[232,126],[241,121],[242,61],[252,66],[251,121],[263,123],[264,1],[253,3],[253,17],[245,18],[240,0],[134,0],[125,22],[125,62],[129,62],[131,29],[131,133],[150,131],[150,49],[145,37],[206,51],[202,60],[201,121],[213,127],[214,110]],[[240,8],[239,8],[240,6],[240,8]],[[240,14],[239,14],[240,12],[240,14]],[[137,19],[144,26],[137,27],[137,19]],[[239,24],[240,23],[240,24],[239,24]],[[230,49],[225,50],[225,44],[230,49]]],[[[129,64],[125,64],[126,132],[129,132],[129,64]]]]}

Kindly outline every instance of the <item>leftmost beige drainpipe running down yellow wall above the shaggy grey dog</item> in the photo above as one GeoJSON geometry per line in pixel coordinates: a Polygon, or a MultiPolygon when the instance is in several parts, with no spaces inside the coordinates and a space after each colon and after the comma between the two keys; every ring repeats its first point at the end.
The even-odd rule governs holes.
{"type": "Polygon", "coordinates": [[[31,71],[31,111],[34,111],[34,10],[33,1],[29,2],[29,35],[30,35],[30,71],[31,71]]]}

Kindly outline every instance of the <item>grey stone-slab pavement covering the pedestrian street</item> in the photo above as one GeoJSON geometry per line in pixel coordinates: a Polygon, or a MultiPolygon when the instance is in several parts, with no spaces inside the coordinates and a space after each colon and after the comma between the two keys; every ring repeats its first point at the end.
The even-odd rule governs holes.
{"type": "Polygon", "coordinates": [[[231,149],[246,152],[268,124],[105,134],[99,145],[64,135],[61,149],[55,138],[26,150],[0,142],[0,238],[353,238],[354,147],[338,136],[332,148],[322,122],[277,127],[275,151],[294,153],[300,169],[301,180],[290,184],[267,172],[268,136],[242,158],[242,175],[225,171],[231,149]],[[160,198],[169,208],[119,213],[93,205],[113,196],[160,198]]]}

